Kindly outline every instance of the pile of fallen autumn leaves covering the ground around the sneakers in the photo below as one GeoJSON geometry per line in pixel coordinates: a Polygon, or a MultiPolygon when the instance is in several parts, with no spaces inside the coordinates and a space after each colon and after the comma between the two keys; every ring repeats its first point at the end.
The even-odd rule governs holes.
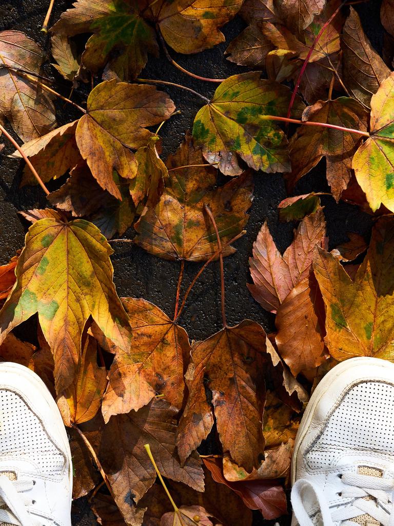
{"type": "Polygon", "coordinates": [[[0,116],[23,145],[0,125],[2,139],[25,160],[22,184],[39,184],[48,200],[23,213],[25,246],[0,267],[0,357],[53,393],[74,498],[88,495],[103,526],[250,526],[250,510],[286,513],[294,438],[317,382],[353,356],[394,359],[393,13],[383,0],[382,58],[351,2],[78,0],[50,29],[69,98],[43,76],[47,56],[32,38],[0,32],[0,116]],[[159,46],[180,67],[171,50],[223,42],[236,15],[248,25],[226,54],[246,73],[217,79],[211,100],[184,86],[201,109],[162,159],[159,131],[176,101],[158,89],[166,83],[139,79],[142,68],[159,46]],[[81,85],[83,107],[72,100],[81,85]],[[55,97],[81,117],[57,127],[55,97]],[[328,251],[327,194],[292,195],[323,158],[328,195],[374,219],[369,246],[350,232],[328,251]],[[253,245],[248,288],[276,315],[266,335],[249,319],[227,326],[223,258],[245,234],[254,177],[274,172],[291,195],[279,219],[296,228],[283,255],[267,223],[253,245]],[[171,318],[117,295],[108,240],[131,226],[133,244],[181,262],[171,318]],[[191,343],[178,320],[214,260],[223,328],[191,343]],[[181,297],[186,261],[200,270],[181,297]],[[32,316],[34,345],[12,332],[32,316]],[[207,439],[216,454],[200,456],[207,439]]]}

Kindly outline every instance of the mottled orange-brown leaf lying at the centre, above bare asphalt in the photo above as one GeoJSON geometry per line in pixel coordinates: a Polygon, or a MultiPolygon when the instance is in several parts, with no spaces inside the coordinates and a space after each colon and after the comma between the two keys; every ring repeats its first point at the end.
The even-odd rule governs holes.
{"type": "MultiPolygon", "coordinates": [[[[204,204],[209,205],[215,216],[222,242],[242,231],[249,217],[246,210],[252,204],[251,173],[213,189],[216,169],[189,167],[201,164],[204,164],[201,148],[193,146],[192,139],[186,137],[177,153],[167,160],[170,171],[159,204],[149,209],[136,225],[137,245],[165,259],[209,259],[217,244],[204,204]]],[[[225,256],[234,252],[231,246],[223,251],[225,256]]]]}

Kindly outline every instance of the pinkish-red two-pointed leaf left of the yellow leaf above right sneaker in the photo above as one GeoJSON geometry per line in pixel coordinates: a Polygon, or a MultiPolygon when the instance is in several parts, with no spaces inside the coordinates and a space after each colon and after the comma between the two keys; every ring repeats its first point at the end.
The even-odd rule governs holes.
{"type": "Polygon", "coordinates": [[[264,309],[276,312],[293,287],[308,277],[313,249],[324,239],[325,229],[320,208],[300,222],[292,244],[281,256],[264,223],[253,244],[253,258],[249,259],[254,285],[247,285],[264,309]]]}

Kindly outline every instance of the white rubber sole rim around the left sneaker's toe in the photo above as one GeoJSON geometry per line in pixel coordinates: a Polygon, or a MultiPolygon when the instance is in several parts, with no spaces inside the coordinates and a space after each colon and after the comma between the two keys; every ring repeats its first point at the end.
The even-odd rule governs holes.
{"type": "MultiPolygon", "coordinates": [[[[71,457],[71,450],[70,450],[70,444],[68,442],[67,432],[66,428],[63,422],[63,419],[61,418],[61,414],[59,411],[59,408],[57,407],[57,404],[53,398],[53,396],[50,394],[47,386],[42,381],[42,379],[32,370],[28,369],[27,367],[20,365],[19,363],[14,362],[0,362],[0,379],[2,374],[7,375],[7,373],[14,373],[14,375],[17,375],[20,377],[21,382],[24,380],[29,382],[30,384],[34,385],[34,388],[41,393],[45,401],[47,402],[49,409],[51,413],[53,413],[53,419],[55,426],[59,429],[59,436],[61,438],[62,444],[62,452],[66,454],[69,462],[69,472],[68,472],[68,478],[70,482],[70,495],[72,495],[72,457],[71,457]]],[[[1,385],[0,380],[0,385],[1,385]]],[[[23,385],[23,383],[22,383],[23,385]]],[[[72,500],[72,497],[71,497],[72,500]]]]}

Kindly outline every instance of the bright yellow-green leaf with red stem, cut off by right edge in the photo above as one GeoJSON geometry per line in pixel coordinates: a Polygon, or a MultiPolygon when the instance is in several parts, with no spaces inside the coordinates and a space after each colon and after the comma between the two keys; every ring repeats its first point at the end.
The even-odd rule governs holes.
{"type": "Polygon", "coordinates": [[[369,206],[394,211],[394,74],[371,98],[370,137],[356,151],[352,168],[369,206]]]}

